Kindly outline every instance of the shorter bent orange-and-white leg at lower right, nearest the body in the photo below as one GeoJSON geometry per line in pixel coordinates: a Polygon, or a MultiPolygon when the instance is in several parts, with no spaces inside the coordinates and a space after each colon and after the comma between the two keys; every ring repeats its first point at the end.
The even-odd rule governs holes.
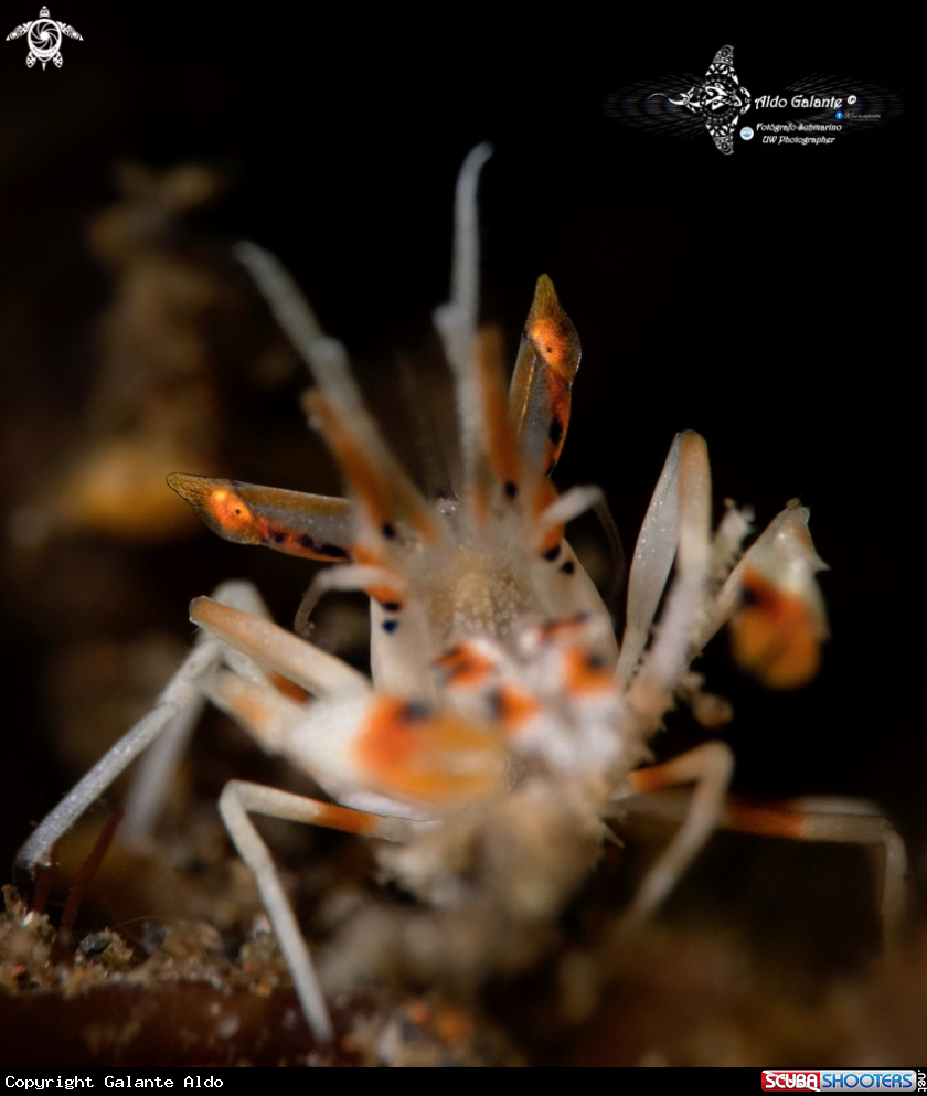
{"type": "MultiPolygon", "coordinates": [[[[723,742],[706,742],[653,769],[639,769],[643,788],[695,783],[685,821],[641,883],[626,915],[629,922],[649,917],[668,897],[724,815],[724,798],[734,772],[734,755],[723,742]],[[648,779],[648,774],[653,774],[648,779]]],[[[646,800],[649,797],[641,797],[646,800]]],[[[622,805],[624,806],[624,805],[622,805]]]]}

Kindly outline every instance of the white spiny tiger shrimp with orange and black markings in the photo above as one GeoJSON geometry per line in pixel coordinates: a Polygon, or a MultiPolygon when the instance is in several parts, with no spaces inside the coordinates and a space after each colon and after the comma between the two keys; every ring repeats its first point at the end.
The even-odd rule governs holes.
{"type": "Polygon", "coordinates": [[[712,533],[705,441],[678,434],[635,547],[619,645],[564,536],[601,492],[558,496],[551,480],[579,365],[576,330],[542,276],[507,394],[500,336],[478,327],[477,185],[489,155],[481,145],[461,168],[450,300],[435,313],[455,383],[462,471],[454,493],[429,499],[414,485],[366,409],[342,344],[253,244],[239,245],[238,258],[306,359],[317,386],[305,406],[348,498],[169,479],[221,536],[334,564],[311,584],[297,631],[326,592],[369,595],[371,678],[274,624],[248,584],[220,586],[192,603],[200,639],[153,711],[18,856],[29,871],[47,863],[61,834],[154,743],[126,821],[129,832],[150,828],[209,699],[334,800],[245,780],[220,799],[320,1041],[332,1035],[323,987],[409,971],[478,985],[524,966],[595,865],[605,820],[630,797],[640,804],[642,792],[672,785],[695,791],[626,912],[629,924],[660,906],[718,824],[882,844],[886,917],[899,903],[904,848],[883,819],[728,808],[733,755],[722,742],[648,767],[648,743],[678,700],[703,722],[723,721],[723,702],[701,691],[690,666],[724,624],[739,662],[766,684],[792,688],[814,674],[827,637],[814,578],[823,564],[797,503],[743,554],[748,511],[729,504],[712,533]],[[384,874],[419,905],[363,913],[316,964],[249,813],[379,839],[384,874]]]}

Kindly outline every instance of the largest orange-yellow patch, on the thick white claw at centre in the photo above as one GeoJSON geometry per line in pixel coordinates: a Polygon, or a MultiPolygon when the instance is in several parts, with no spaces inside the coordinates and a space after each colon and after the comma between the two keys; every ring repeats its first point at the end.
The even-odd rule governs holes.
{"type": "Polygon", "coordinates": [[[419,802],[466,802],[504,787],[504,755],[489,728],[398,698],[374,703],[354,752],[386,792],[419,802]]]}

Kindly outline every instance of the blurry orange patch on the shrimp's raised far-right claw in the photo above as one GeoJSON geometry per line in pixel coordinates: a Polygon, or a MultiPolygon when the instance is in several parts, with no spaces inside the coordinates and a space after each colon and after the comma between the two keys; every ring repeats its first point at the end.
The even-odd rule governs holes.
{"type": "Polygon", "coordinates": [[[731,621],[734,658],[769,689],[807,684],[821,664],[821,623],[798,594],[774,586],[754,567],[749,598],[731,621]]]}

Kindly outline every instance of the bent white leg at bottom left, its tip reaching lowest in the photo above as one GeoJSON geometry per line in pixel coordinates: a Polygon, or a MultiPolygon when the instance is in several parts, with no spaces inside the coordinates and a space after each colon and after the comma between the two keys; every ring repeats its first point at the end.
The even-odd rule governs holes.
{"type": "Polygon", "coordinates": [[[244,780],[231,780],[225,785],[219,809],[238,855],[254,873],[260,900],[270,918],[312,1034],[319,1042],[330,1042],[333,1035],[331,1019],[309,948],[280,885],[270,851],[252,824],[247,812],[365,833],[392,841],[405,840],[411,833],[417,832],[415,823],[349,810],[244,780]]]}

